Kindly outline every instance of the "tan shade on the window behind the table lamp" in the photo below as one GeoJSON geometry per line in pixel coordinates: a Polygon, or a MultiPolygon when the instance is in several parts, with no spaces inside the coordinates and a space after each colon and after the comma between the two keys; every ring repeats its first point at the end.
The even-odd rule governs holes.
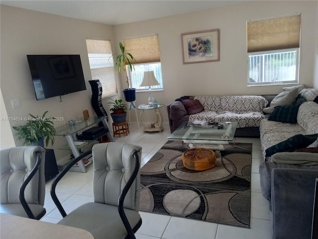
{"type": "Polygon", "coordinates": [[[125,52],[131,53],[135,63],[159,62],[158,34],[141,37],[124,38],[125,52]]]}

